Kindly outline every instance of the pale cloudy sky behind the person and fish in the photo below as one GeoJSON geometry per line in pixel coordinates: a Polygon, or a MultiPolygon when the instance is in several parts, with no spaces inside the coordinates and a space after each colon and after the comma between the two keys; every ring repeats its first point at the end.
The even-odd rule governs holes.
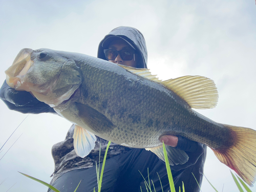
{"type": "MultiPolygon", "coordinates": [[[[218,105],[199,113],[255,130],[255,18],[252,0],[0,0],[0,82],[23,48],[96,56],[106,34],[130,26],[144,35],[148,68],[160,79],[201,75],[215,81],[218,105]]],[[[18,172],[49,183],[54,170],[51,147],[65,138],[71,123],[53,114],[27,116],[11,111],[2,101],[0,121],[0,146],[22,122],[0,153],[1,159],[21,135],[0,160],[0,191],[47,191],[18,172]]],[[[238,191],[230,169],[210,148],[204,174],[217,190],[238,191]]],[[[201,190],[214,191],[205,178],[201,190]]]]}

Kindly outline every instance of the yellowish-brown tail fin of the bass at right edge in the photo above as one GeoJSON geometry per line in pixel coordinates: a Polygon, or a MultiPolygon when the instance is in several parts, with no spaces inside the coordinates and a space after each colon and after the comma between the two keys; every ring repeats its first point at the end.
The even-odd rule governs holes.
{"type": "Polygon", "coordinates": [[[256,131],[225,125],[234,133],[234,144],[225,150],[214,150],[217,158],[233,169],[248,185],[256,180],[256,131]]]}

